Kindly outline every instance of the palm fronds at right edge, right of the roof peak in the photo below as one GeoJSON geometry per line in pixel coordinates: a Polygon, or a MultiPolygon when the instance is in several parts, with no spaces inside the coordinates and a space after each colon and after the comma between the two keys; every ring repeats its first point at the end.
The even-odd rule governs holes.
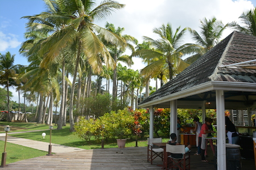
{"type": "Polygon", "coordinates": [[[256,8],[243,12],[239,18],[241,24],[232,22],[229,27],[248,35],[256,36],[256,8]]]}

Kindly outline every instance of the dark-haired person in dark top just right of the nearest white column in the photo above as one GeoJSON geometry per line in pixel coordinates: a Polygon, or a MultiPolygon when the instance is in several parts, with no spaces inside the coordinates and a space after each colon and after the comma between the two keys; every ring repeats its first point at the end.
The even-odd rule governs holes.
{"type": "Polygon", "coordinates": [[[232,121],[230,121],[228,116],[225,116],[225,124],[226,124],[226,135],[228,136],[229,143],[238,145],[238,141],[239,141],[238,132],[236,130],[236,127],[234,126],[232,121]]]}

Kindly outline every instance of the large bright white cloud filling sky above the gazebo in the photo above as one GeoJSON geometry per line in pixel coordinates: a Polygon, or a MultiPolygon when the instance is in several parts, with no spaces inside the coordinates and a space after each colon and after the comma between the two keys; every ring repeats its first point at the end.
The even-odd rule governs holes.
{"type": "MultiPolygon", "coordinates": [[[[199,20],[210,19],[215,16],[224,24],[238,20],[243,11],[253,8],[251,1],[246,0],[119,0],[126,5],[125,8],[113,12],[107,20],[115,27],[125,28],[125,34],[136,37],[142,42],[142,36],[156,39],[153,28],[159,28],[162,24],[171,23],[175,29],[191,27],[199,30],[199,20]]],[[[105,22],[99,23],[104,27],[105,22]]],[[[232,31],[226,31],[227,36],[232,31]]],[[[187,33],[188,35],[188,33],[187,33]]],[[[188,35],[189,37],[189,35],[188,35]]],[[[186,39],[187,40],[187,39],[186,39]]]]}

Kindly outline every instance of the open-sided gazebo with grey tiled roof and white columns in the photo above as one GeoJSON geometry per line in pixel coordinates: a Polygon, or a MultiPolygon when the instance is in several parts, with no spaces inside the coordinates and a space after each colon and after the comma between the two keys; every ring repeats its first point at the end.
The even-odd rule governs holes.
{"type": "Polygon", "coordinates": [[[234,31],[148,96],[139,107],[149,108],[150,138],[154,138],[154,107],[171,109],[170,133],[177,133],[177,108],[202,109],[203,120],[206,107],[216,109],[217,168],[226,169],[224,112],[256,107],[256,70],[225,66],[253,59],[256,59],[256,37],[234,31]]]}

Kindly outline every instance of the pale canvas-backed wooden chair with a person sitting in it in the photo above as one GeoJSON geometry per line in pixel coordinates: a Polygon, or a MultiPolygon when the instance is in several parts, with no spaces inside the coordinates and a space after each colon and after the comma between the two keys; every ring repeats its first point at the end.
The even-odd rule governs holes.
{"type": "Polygon", "coordinates": [[[185,145],[166,144],[166,152],[170,155],[167,157],[166,169],[179,168],[185,170],[186,167],[190,169],[190,153],[185,152],[185,145]]]}

